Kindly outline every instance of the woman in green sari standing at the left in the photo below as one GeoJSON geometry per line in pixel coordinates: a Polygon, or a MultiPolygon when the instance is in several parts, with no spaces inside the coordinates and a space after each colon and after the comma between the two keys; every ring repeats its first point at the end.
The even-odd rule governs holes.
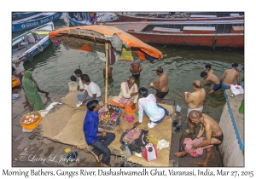
{"type": "Polygon", "coordinates": [[[38,94],[37,86],[32,82],[32,72],[25,71],[22,78],[22,84],[25,91],[26,99],[33,111],[44,109],[41,96],[38,94]]]}

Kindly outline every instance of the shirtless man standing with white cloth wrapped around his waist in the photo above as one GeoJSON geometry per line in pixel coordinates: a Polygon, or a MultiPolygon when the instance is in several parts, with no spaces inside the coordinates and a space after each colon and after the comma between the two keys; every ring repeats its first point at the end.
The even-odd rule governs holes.
{"type": "MultiPolygon", "coordinates": [[[[189,119],[189,113],[192,110],[196,110],[199,112],[202,112],[203,110],[203,101],[206,98],[206,90],[201,88],[201,81],[195,80],[192,84],[193,90],[195,90],[192,93],[184,92],[184,99],[185,102],[188,105],[188,114],[187,117],[189,119]]],[[[189,133],[195,133],[195,123],[191,123],[189,120],[189,133]]]]}

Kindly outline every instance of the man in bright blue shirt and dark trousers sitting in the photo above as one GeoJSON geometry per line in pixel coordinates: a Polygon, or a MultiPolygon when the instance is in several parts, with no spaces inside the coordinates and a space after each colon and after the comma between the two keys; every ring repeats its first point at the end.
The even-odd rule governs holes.
{"type": "Polygon", "coordinates": [[[87,113],[84,118],[84,137],[88,145],[94,147],[91,150],[91,154],[95,157],[97,162],[100,162],[99,155],[102,156],[102,166],[109,166],[110,162],[110,150],[109,144],[114,140],[115,135],[110,132],[99,131],[99,102],[96,100],[89,101],[87,103],[87,113]]]}

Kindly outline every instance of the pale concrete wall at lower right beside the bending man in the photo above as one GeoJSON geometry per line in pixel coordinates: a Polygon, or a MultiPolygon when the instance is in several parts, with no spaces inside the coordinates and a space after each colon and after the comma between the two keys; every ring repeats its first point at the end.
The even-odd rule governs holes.
{"type": "Polygon", "coordinates": [[[244,166],[244,153],[241,151],[236,131],[232,124],[227,103],[224,105],[219,126],[223,131],[224,140],[218,146],[224,166],[244,166]]]}

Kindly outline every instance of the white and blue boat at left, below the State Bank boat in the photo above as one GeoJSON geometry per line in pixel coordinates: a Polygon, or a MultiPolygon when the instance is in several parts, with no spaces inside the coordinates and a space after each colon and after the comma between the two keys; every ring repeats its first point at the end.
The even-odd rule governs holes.
{"type": "Polygon", "coordinates": [[[12,56],[15,60],[32,61],[33,56],[42,52],[50,43],[49,32],[54,30],[53,22],[25,32],[12,40],[12,56]]]}

